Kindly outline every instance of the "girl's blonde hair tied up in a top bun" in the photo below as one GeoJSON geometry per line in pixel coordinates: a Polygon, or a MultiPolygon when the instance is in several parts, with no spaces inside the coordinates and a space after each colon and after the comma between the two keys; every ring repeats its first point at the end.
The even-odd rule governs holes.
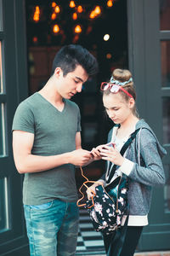
{"type": "MultiPolygon", "coordinates": [[[[127,92],[133,96],[134,101],[136,101],[136,91],[134,89],[133,79],[131,78],[132,78],[132,73],[129,70],[116,68],[111,75],[111,82],[113,80],[116,80],[116,82],[124,83],[124,82],[128,82],[128,80],[130,79],[128,83],[125,83],[124,85],[121,85],[121,86],[123,89],[127,90],[127,92]]],[[[112,93],[110,89],[104,91],[105,95],[109,95],[110,93],[112,93]]],[[[129,101],[129,96],[127,96],[127,94],[124,93],[122,90],[119,90],[118,93],[122,95],[122,97],[125,99],[126,102],[129,101]]],[[[134,104],[133,114],[139,117],[136,104],[134,104]]]]}

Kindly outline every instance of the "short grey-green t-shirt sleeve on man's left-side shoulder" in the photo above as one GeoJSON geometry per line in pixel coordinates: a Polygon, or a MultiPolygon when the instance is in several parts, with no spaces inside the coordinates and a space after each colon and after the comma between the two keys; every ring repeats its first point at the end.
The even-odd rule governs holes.
{"type": "Polygon", "coordinates": [[[26,102],[21,102],[14,113],[12,131],[14,130],[34,133],[34,115],[26,102]]]}

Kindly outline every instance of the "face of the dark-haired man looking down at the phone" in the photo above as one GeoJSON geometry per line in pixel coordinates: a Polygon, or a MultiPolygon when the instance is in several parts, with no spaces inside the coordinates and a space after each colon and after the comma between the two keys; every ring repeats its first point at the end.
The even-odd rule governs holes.
{"type": "Polygon", "coordinates": [[[67,73],[65,77],[62,70],[57,67],[54,75],[57,78],[57,91],[65,99],[71,99],[77,92],[81,92],[82,84],[88,80],[88,73],[80,65],[73,72],[67,73]]]}

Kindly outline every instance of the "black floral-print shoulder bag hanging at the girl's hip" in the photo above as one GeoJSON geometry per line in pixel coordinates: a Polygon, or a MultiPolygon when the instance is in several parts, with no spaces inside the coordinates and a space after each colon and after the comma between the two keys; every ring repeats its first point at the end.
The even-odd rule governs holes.
{"type": "MultiPolygon", "coordinates": [[[[131,137],[123,145],[120,152],[122,155],[125,153],[130,143],[132,143],[138,131],[139,130],[134,131],[131,137]]],[[[98,185],[95,187],[95,195],[91,200],[86,201],[85,204],[79,205],[79,202],[84,198],[81,187],[79,191],[82,193],[82,198],[77,201],[78,207],[83,206],[88,209],[89,216],[94,225],[94,230],[100,231],[105,235],[111,234],[121,227],[123,215],[127,215],[125,225],[127,225],[128,221],[127,176],[118,176],[111,182],[111,177],[113,177],[115,171],[116,166],[113,166],[107,180],[107,183],[109,184],[106,185],[105,188],[103,185],[98,185]]],[[[82,176],[85,177],[83,173],[82,176]]],[[[88,188],[87,183],[96,183],[94,181],[89,181],[87,177],[85,178],[87,181],[84,182],[82,186],[84,185],[88,188]]]]}

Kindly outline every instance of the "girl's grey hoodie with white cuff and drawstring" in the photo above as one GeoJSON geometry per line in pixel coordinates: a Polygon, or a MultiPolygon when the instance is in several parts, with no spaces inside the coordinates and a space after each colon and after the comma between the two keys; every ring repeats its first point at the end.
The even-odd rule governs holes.
{"type": "MultiPolygon", "coordinates": [[[[152,187],[165,183],[161,158],[167,152],[144,119],[136,124],[136,130],[139,128],[141,130],[127,148],[126,160],[120,168],[128,177],[130,215],[146,216],[150,210],[152,187]]],[[[108,142],[111,142],[113,129],[109,132],[108,142]]]]}

